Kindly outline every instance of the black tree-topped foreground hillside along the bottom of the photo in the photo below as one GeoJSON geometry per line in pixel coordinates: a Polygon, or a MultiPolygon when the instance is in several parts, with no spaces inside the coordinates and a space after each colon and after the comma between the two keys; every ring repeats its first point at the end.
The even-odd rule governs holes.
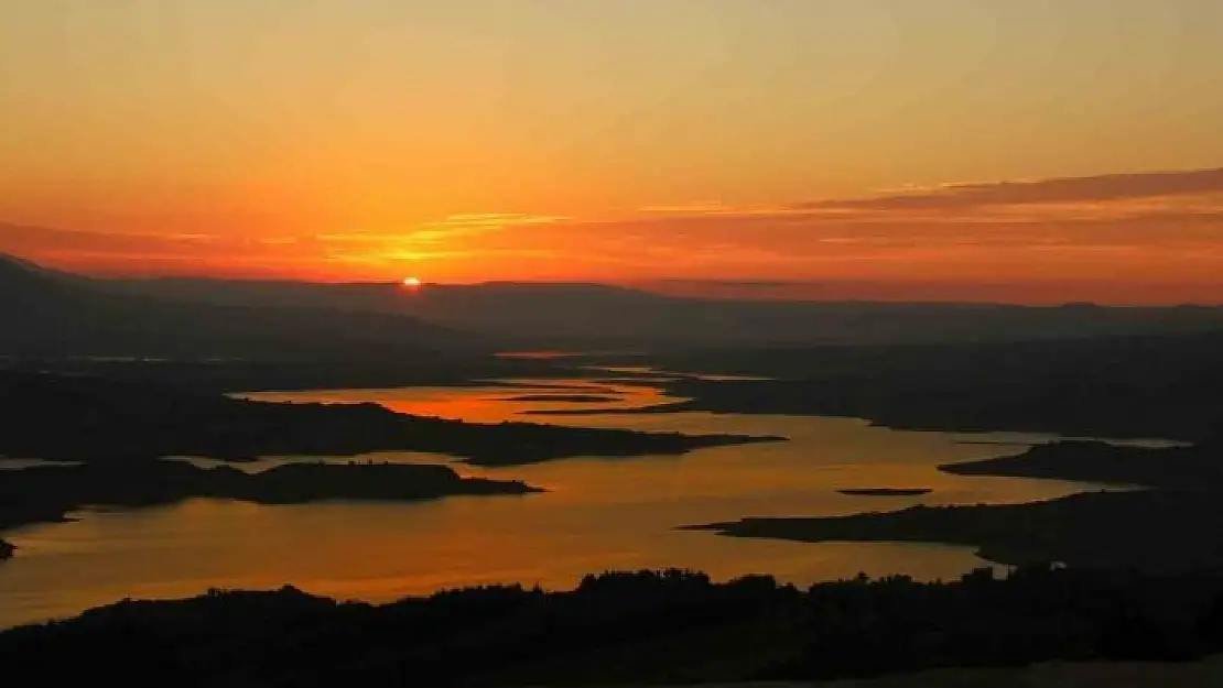
{"type": "Polygon", "coordinates": [[[1046,661],[1190,661],[1223,648],[1217,576],[1022,568],[807,590],[682,571],[373,606],[285,587],[131,601],[0,633],[29,688],[630,686],[812,681],[1046,661]]]}

